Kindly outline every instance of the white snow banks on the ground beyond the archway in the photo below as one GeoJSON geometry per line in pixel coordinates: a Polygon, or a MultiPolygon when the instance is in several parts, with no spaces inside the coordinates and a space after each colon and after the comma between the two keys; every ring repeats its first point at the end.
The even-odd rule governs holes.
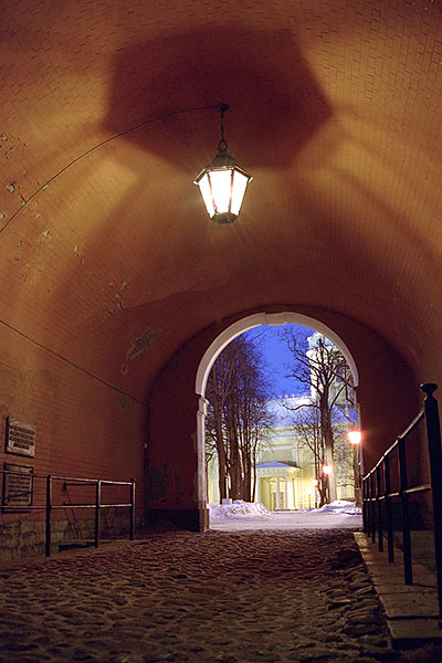
{"type": "MultiPolygon", "coordinates": [[[[274,517],[277,513],[271,512],[261,502],[250,503],[243,499],[234,499],[233,504],[209,504],[211,523],[222,523],[225,520],[241,520],[242,518],[259,518],[267,519],[274,517]]],[[[284,512],[301,513],[301,512],[284,512]]],[[[320,508],[306,509],[303,513],[327,513],[336,514],[339,516],[357,516],[361,513],[359,506],[356,506],[354,502],[345,502],[344,499],[336,499],[330,504],[325,504],[320,508]]]]}

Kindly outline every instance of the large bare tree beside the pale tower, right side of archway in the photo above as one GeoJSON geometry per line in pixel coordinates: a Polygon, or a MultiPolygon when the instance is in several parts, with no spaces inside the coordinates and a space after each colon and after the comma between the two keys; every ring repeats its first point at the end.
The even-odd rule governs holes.
{"type": "Polygon", "coordinates": [[[328,498],[333,502],[336,499],[334,414],[338,403],[345,404],[343,412],[348,412],[354,404],[351,373],[340,350],[320,334],[315,334],[315,343],[309,349],[305,347],[304,339],[295,327],[285,327],[281,336],[293,357],[293,365],[286,377],[308,387],[312,394],[309,402],[296,407],[286,403],[285,407],[292,411],[317,411],[322,463],[325,461],[330,467],[327,477],[320,473],[317,478],[322,486],[328,483],[328,498]]]}

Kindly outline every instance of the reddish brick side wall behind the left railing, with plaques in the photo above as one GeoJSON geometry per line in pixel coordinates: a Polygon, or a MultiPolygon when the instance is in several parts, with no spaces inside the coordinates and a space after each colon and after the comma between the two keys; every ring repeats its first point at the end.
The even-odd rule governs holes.
{"type": "MultiPolygon", "coordinates": [[[[57,475],[114,481],[136,480],[137,520],[144,518],[144,443],[146,408],[117,389],[38,347],[15,332],[0,327],[0,463],[33,467],[35,475],[57,475]],[[35,456],[6,452],[6,418],[17,418],[36,427],[35,456]]],[[[44,504],[44,480],[34,480],[33,503],[44,504]]],[[[94,502],[93,486],[69,486],[54,481],[53,503],[94,502]]],[[[128,488],[103,490],[103,501],[129,502],[128,488]]],[[[109,509],[103,515],[104,529],[112,530],[124,513],[109,509]]],[[[93,518],[90,509],[53,512],[54,534],[73,537],[76,520],[93,518]],[[75,516],[74,516],[75,513],[75,516]],[[56,524],[59,522],[59,524],[56,524]]],[[[0,558],[18,551],[41,551],[44,512],[0,515],[2,549],[0,558]],[[22,525],[20,525],[22,524],[22,525]],[[22,540],[22,537],[25,537],[22,540]],[[33,541],[33,544],[31,544],[33,541]]],[[[82,525],[80,529],[91,525],[82,525]]],[[[128,509],[126,509],[128,532],[128,509]]],[[[0,546],[1,548],[1,546],[0,546]]]]}

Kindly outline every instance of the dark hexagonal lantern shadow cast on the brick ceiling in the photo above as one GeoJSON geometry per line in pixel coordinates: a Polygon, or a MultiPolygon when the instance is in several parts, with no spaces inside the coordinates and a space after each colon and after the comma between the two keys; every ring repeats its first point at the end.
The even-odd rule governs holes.
{"type": "MultiPolygon", "coordinates": [[[[232,108],[232,154],[251,169],[290,165],[333,114],[288,31],[214,29],[164,34],[118,52],[104,128],[117,134],[223,99],[232,108]]],[[[192,173],[211,158],[215,131],[213,113],[189,113],[125,139],[192,173]]]]}

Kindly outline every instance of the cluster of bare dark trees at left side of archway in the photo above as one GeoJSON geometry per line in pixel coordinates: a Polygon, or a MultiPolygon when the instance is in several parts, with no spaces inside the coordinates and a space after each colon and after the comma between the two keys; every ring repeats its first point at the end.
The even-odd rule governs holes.
{"type": "Polygon", "coordinates": [[[210,372],[207,398],[207,453],[218,455],[220,497],[227,497],[229,477],[230,495],[251,502],[263,431],[271,425],[259,340],[241,335],[224,348],[210,372]]]}

